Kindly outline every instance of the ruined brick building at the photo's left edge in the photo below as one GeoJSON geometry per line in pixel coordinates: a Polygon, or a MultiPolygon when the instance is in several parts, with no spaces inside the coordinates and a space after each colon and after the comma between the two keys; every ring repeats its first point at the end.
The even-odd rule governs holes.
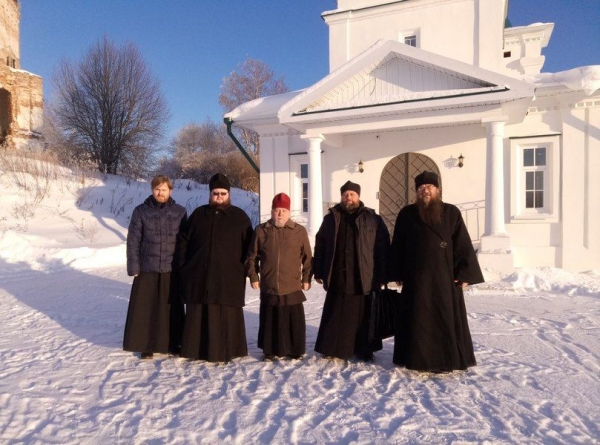
{"type": "Polygon", "coordinates": [[[42,146],[42,78],[21,69],[18,0],[0,0],[0,145],[42,146]]]}

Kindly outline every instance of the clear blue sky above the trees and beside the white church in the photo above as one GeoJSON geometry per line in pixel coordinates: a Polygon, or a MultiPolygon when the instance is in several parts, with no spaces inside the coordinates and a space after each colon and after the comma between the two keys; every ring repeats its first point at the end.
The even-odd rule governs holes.
{"type": "MultiPolygon", "coordinates": [[[[21,0],[21,67],[44,78],[107,35],[133,42],[169,103],[167,137],[190,122],[220,122],[222,79],[247,57],[266,62],[292,90],[329,71],[323,11],[335,0],[21,0]]],[[[600,0],[510,0],[513,26],[555,23],[543,71],[600,65],[600,0]]]]}

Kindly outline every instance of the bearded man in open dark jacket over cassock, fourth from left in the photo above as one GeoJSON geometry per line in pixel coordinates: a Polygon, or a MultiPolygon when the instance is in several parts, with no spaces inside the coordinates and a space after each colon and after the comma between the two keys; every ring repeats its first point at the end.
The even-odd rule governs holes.
{"type": "Polygon", "coordinates": [[[373,209],[360,201],[360,185],[346,182],[315,238],[315,281],[327,291],[315,351],[326,357],[373,360],[381,340],[369,338],[371,292],[385,283],[390,236],[373,209]]]}

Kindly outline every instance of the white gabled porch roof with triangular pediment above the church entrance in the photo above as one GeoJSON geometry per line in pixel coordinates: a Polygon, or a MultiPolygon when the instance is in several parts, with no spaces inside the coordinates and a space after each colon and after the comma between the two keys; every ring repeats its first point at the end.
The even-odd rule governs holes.
{"type": "Polygon", "coordinates": [[[346,131],[343,126],[357,129],[358,122],[366,129],[375,121],[389,126],[476,122],[490,112],[510,122],[523,119],[534,90],[513,77],[379,40],[311,87],[248,102],[226,117],[242,126],[279,123],[301,132],[330,125],[346,131]],[[410,122],[415,116],[416,124],[410,122]]]}

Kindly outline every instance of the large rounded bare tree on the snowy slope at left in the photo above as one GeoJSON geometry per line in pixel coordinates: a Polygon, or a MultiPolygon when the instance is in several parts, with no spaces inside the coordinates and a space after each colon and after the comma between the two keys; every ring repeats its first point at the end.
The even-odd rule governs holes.
{"type": "Polygon", "coordinates": [[[169,119],[158,80],[137,47],[107,37],[54,75],[55,118],[73,155],[106,173],[144,173],[169,119]]]}

